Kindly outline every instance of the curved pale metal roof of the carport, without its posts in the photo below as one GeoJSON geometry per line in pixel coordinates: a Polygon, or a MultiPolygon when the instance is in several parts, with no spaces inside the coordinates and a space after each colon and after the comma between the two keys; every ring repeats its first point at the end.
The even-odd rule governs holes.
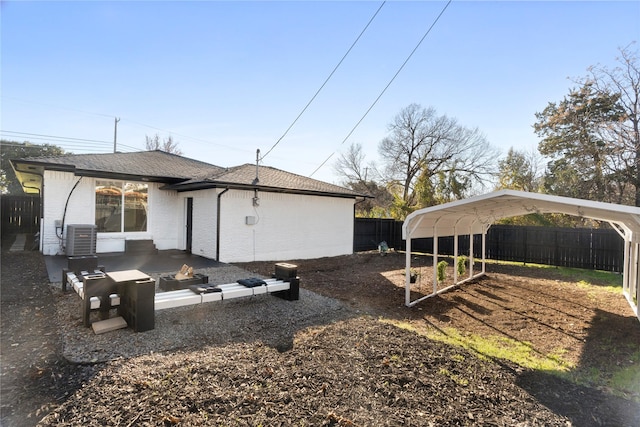
{"type": "Polygon", "coordinates": [[[479,234],[494,222],[530,213],[563,213],[613,222],[640,234],[640,208],[569,197],[500,190],[411,213],[402,237],[412,239],[454,234],[479,234]],[[437,231],[436,231],[437,230],[437,231]]]}

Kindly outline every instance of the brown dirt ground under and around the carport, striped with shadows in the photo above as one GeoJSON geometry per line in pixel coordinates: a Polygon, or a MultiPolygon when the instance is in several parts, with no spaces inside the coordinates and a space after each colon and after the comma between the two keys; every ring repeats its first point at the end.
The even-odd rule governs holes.
{"type": "MultiPolygon", "coordinates": [[[[555,268],[488,263],[485,278],[407,308],[404,254],[369,252],[291,262],[299,265],[306,289],[418,330],[455,328],[464,334],[495,335],[529,343],[541,355],[561,348],[564,359],[600,370],[612,362],[628,364],[625,358],[640,348],[640,322],[621,292],[582,287],[581,277],[568,278],[555,268]],[[620,345],[619,360],[612,360],[618,355],[612,355],[606,343],[620,345]]],[[[412,259],[412,267],[421,273],[412,300],[432,291],[431,264],[430,256],[412,259]]],[[[273,270],[273,263],[238,265],[261,274],[273,270]]],[[[449,281],[452,276],[449,267],[449,281]]]]}

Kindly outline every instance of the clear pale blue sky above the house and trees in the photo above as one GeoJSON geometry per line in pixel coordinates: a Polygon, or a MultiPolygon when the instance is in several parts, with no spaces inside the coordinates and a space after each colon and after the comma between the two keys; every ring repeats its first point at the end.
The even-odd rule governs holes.
{"type": "MultiPolygon", "coordinates": [[[[3,1],[2,138],[76,153],[173,136],[187,157],[255,162],[285,133],[382,2],[3,1]],[[26,135],[26,134],[32,134],[26,135]],[[34,135],[49,135],[66,140],[34,135]],[[78,140],[71,140],[76,138],[78,140]],[[97,142],[88,142],[97,141],[97,142]]],[[[640,2],[388,1],[263,164],[338,182],[351,143],[368,161],[411,103],[531,150],[535,113],[590,65],[640,42],[640,2]],[[343,142],[344,141],[344,142],[343,142]]]]}

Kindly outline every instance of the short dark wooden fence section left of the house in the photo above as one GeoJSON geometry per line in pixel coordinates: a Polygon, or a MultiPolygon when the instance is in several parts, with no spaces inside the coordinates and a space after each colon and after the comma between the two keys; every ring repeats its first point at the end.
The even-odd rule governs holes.
{"type": "Polygon", "coordinates": [[[2,233],[35,234],[40,230],[40,198],[0,196],[2,233]]]}

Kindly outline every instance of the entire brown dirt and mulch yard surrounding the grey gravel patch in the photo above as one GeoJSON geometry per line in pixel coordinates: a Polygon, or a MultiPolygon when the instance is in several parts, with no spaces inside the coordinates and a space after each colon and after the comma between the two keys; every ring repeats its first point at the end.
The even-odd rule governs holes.
{"type": "MultiPolygon", "coordinates": [[[[40,314],[28,325],[6,309],[20,298],[7,281],[42,291],[41,258],[3,252],[3,425],[45,416],[40,425],[640,425],[640,396],[607,382],[640,363],[640,322],[620,293],[555,269],[489,265],[486,278],[407,308],[403,254],[294,260],[302,287],[343,301],[354,315],[303,330],[286,351],[199,343],[71,365],[51,354],[59,342],[45,304],[33,301],[40,314]],[[523,368],[509,354],[489,354],[477,337],[507,353],[519,345],[565,372],[523,368]],[[26,376],[7,383],[12,369],[26,376]],[[10,408],[9,393],[17,396],[10,408]]],[[[413,264],[422,273],[416,298],[431,286],[431,259],[413,264]]],[[[271,262],[239,266],[273,271],[271,262]]]]}

